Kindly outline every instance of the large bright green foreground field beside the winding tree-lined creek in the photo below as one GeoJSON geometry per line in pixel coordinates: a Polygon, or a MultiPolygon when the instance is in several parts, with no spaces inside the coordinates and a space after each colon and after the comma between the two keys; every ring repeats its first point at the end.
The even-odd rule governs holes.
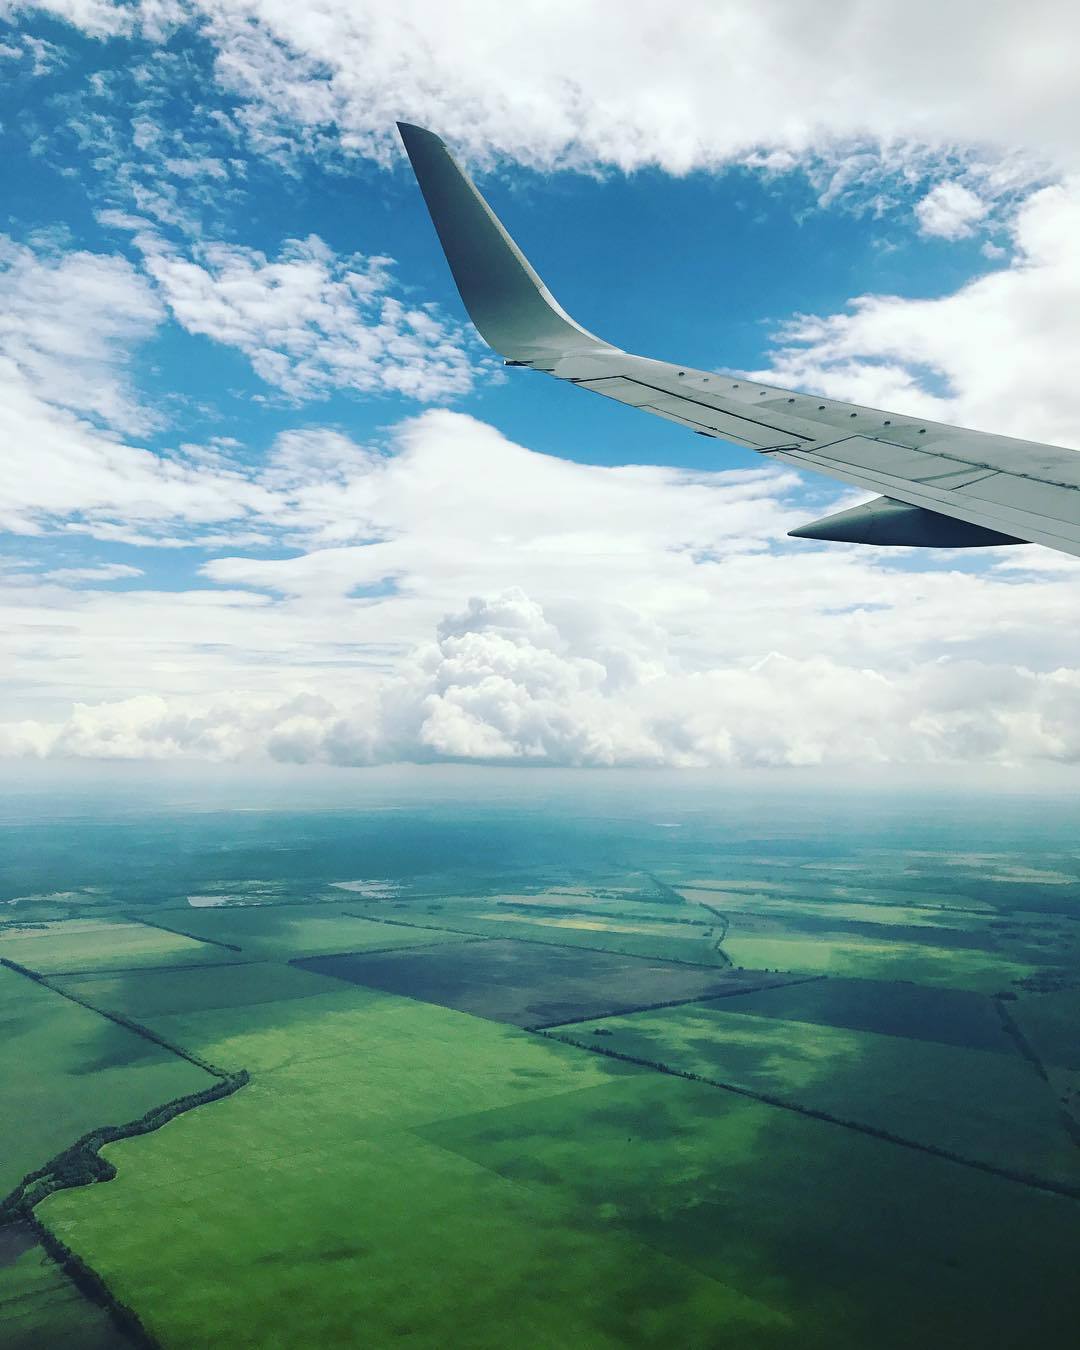
{"type": "Polygon", "coordinates": [[[768,1305],[412,1133],[636,1071],[355,988],[159,1025],[251,1084],[39,1215],[167,1346],[770,1343],[768,1305]]]}

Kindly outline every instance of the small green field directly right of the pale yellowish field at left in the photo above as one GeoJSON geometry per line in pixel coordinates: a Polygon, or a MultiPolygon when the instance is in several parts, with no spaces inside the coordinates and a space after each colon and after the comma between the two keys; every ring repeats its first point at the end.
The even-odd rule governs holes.
{"type": "Polygon", "coordinates": [[[157,913],[162,923],[192,937],[235,944],[240,948],[235,959],[325,956],[460,941],[454,934],[352,918],[347,905],[262,905],[157,913]]]}

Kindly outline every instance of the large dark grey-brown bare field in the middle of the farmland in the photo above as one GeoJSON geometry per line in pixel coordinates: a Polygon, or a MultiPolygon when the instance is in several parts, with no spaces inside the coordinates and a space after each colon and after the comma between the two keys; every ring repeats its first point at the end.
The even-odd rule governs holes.
{"type": "Polygon", "coordinates": [[[306,971],[408,994],[517,1026],[543,1026],[625,1008],[737,994],[783,976],[709,971],[614,952],[487,941],[377,956],[327,956],[306,971]]]}

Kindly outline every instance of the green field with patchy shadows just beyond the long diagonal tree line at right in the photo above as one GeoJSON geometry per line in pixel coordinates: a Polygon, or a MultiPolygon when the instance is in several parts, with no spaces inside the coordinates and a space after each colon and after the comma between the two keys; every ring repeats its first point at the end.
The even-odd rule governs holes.
{"type": "Polygon", "coordinates": [[[1080,1150],[1046,1084],[1017,1054],[724,1008],[725,1000],[656,1008],[556,1034],[992,1166],[1080,1184],[1080,1150]],[[594,1037],[595,1027],[609,1035],[594,1037]]]}

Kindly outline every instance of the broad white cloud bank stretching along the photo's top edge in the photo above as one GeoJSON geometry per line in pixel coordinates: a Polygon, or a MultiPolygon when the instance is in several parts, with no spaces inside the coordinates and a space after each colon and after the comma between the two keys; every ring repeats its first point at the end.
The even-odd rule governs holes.
{"type": "Polygon", "coordinates": [[[540,166],[683,173],[817,154],[841,169],[860,147],[865,177],[960,150],[990,189],[1002,166],[1030,177],[1033,158],[1079,166],[1080,19],[1060,0],[991,0],[977,23],[933,0],[837,0],[828,20],[795,0],[686,0],[674,12],[626,0],[618,23],[597,4],[502,0],[8,8],[43,8],[94,36],[161,40],[186,22],[212,42],[252,144],[278,159],[344,148],[387,161],[405,117],[470,155],[540,166]]]}

